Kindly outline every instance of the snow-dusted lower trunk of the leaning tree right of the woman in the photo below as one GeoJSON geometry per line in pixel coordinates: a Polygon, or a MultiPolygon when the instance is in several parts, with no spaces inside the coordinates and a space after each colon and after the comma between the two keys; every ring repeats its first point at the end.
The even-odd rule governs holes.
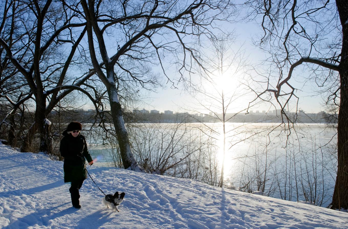
{"type": "Polygon", "coordinates": [[[118,100],[117,88],[113,83],[109,84],[108,95],[110,101],[111,116],[115,127],[122,164],[125,169],[141,171],[129,145],[128,133],[122,116],[121,104],[118,100]]]}

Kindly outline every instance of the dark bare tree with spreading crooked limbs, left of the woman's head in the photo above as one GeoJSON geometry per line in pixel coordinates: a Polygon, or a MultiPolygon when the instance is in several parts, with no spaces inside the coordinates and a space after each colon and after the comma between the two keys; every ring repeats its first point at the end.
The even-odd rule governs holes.
{"type": "Polygon", "coordinates": [[[27,131],[22,151],[28,151],[36,132],[40,134],[39,150],[52,151],[51,122],[47,115],[71,91],[80,90],[96,101],[80,87],[93,76],[93,71],[73,85],[64,85],[68,68],[78,64],[73,57],[86,33],[84,26],[85,23],[79,21],[78,14],[65,1],[4,2],[0,46],[6,52],[5,60],[10,61],[7,68],[14,69],[16,74],[9,73],[2,81],[25,81],[25,87],[21,87],[23,93],[15,98],[15,102],[7,96],[13,107],[9,115],[11,117],[29,99],[35,104],[34,123],[27,131]],[[67,44],[72,46],[64,56],[62,49],[63,46],[67,48],[67,44]]]}

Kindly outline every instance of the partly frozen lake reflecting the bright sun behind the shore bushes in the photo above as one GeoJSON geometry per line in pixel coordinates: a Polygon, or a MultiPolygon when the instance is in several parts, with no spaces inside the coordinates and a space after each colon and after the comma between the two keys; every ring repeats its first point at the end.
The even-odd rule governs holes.
{"type": "MultiPolygon", "coordinates": [[[[278,125],[226,124],[224,184],[326,207],[331,202],[336,178],[337,129],[326,124],[296,124],[284,130],[284,126],[278,125]]],[[[190,173],[187,176],[177,175],[175,171],[167,175],[214,185],[221,174],[222,130],[221,123],[134,124],[128,128],[134,154],[141,155],[139,161],[144,155],[156,161],[165,153],[174,152],[173,161],[187,157],[189,166],[197,171],[194,177],[187,167],[185,171],[189,172],[185,173],[190,173]],[[189,152],[192,154],[188,156],[189,152]]],[[[97,136],[86,137],[92,144],[89,151],[98,158],[97,163],[117,166],[115,148],[103,145],[97,136]]]]}

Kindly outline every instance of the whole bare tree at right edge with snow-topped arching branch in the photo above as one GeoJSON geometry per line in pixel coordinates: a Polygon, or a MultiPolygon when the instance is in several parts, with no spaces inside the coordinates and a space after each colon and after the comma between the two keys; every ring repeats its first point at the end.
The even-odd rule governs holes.
{"type": "MultiPolygon", "coordinates": [[[[259,47],[271,57],[278,78],[272,85],[268,77],[258,98],[271,94],[282,107],[291,107],[296,97],[292,86],[294,70],[307,65],[318,88],[327,85],[327,101],[338,107],[338,168],[332,198],[332,209],[348,208],[348,5],[344,0],[265,1],[249,0],[250,17],[256,18],[263,30],[259,47]]],[[[260,81],[259,81],[260,82],[260,81]]],[[[290,121],[291,122],[291,121],[290,121]]]]}

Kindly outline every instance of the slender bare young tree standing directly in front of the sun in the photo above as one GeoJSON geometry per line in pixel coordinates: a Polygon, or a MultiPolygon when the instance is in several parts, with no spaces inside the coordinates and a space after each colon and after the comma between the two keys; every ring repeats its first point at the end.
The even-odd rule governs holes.
{"type": "MultiPolygon", "coordinates": [[[[243,97],[246,96],[247,90],[244,88],[241,75],[247,64],[247,56],[245,51],[240,46],[237,50],[232,48],[234,45],[234,37],[231,34],[219,34],[211,38],[208,50],[206,52],[206,62],[209,65],[209,73],[207,80],[202,82],[202,85],[195,90],[196,98],[198,99],[198,106],[200,109],[209,111],[209,115],[205,115],[206,121],[213,121],[214,123],[221,123],[222,128],[211,126],[203,123],[200,127],[203,133],[214,139],[217,148],[221,148],[222,158],[220,181],[217,183],[219,187],[223,187],[226,179],[225,159],[231,156],[231,149],[235,144],[243,142],[255,135],[255,133],[247,133],[245,139],[231,141],[232,137],[238,134],[238,128],[244,125],[229,126],[228,123],[233,121],[237,116],[244,116],[246,113],[247,104],[242,104],[243,97]],[[243,105],[245,108],[243,109],[243,105]],[[238,107],[238,109],[236,109],[238,107]],[[234,113],[232,113],[232,111],[234,113]],[[208,117],[208,118],[207,118],[208,117]],[[221,142],[220,142],[221,141],[221,142]]],[[[200,121],[197,119],[197,121],[200,121]]],[[[236,139],[235,139],[236,140],[236,139]]]]}

